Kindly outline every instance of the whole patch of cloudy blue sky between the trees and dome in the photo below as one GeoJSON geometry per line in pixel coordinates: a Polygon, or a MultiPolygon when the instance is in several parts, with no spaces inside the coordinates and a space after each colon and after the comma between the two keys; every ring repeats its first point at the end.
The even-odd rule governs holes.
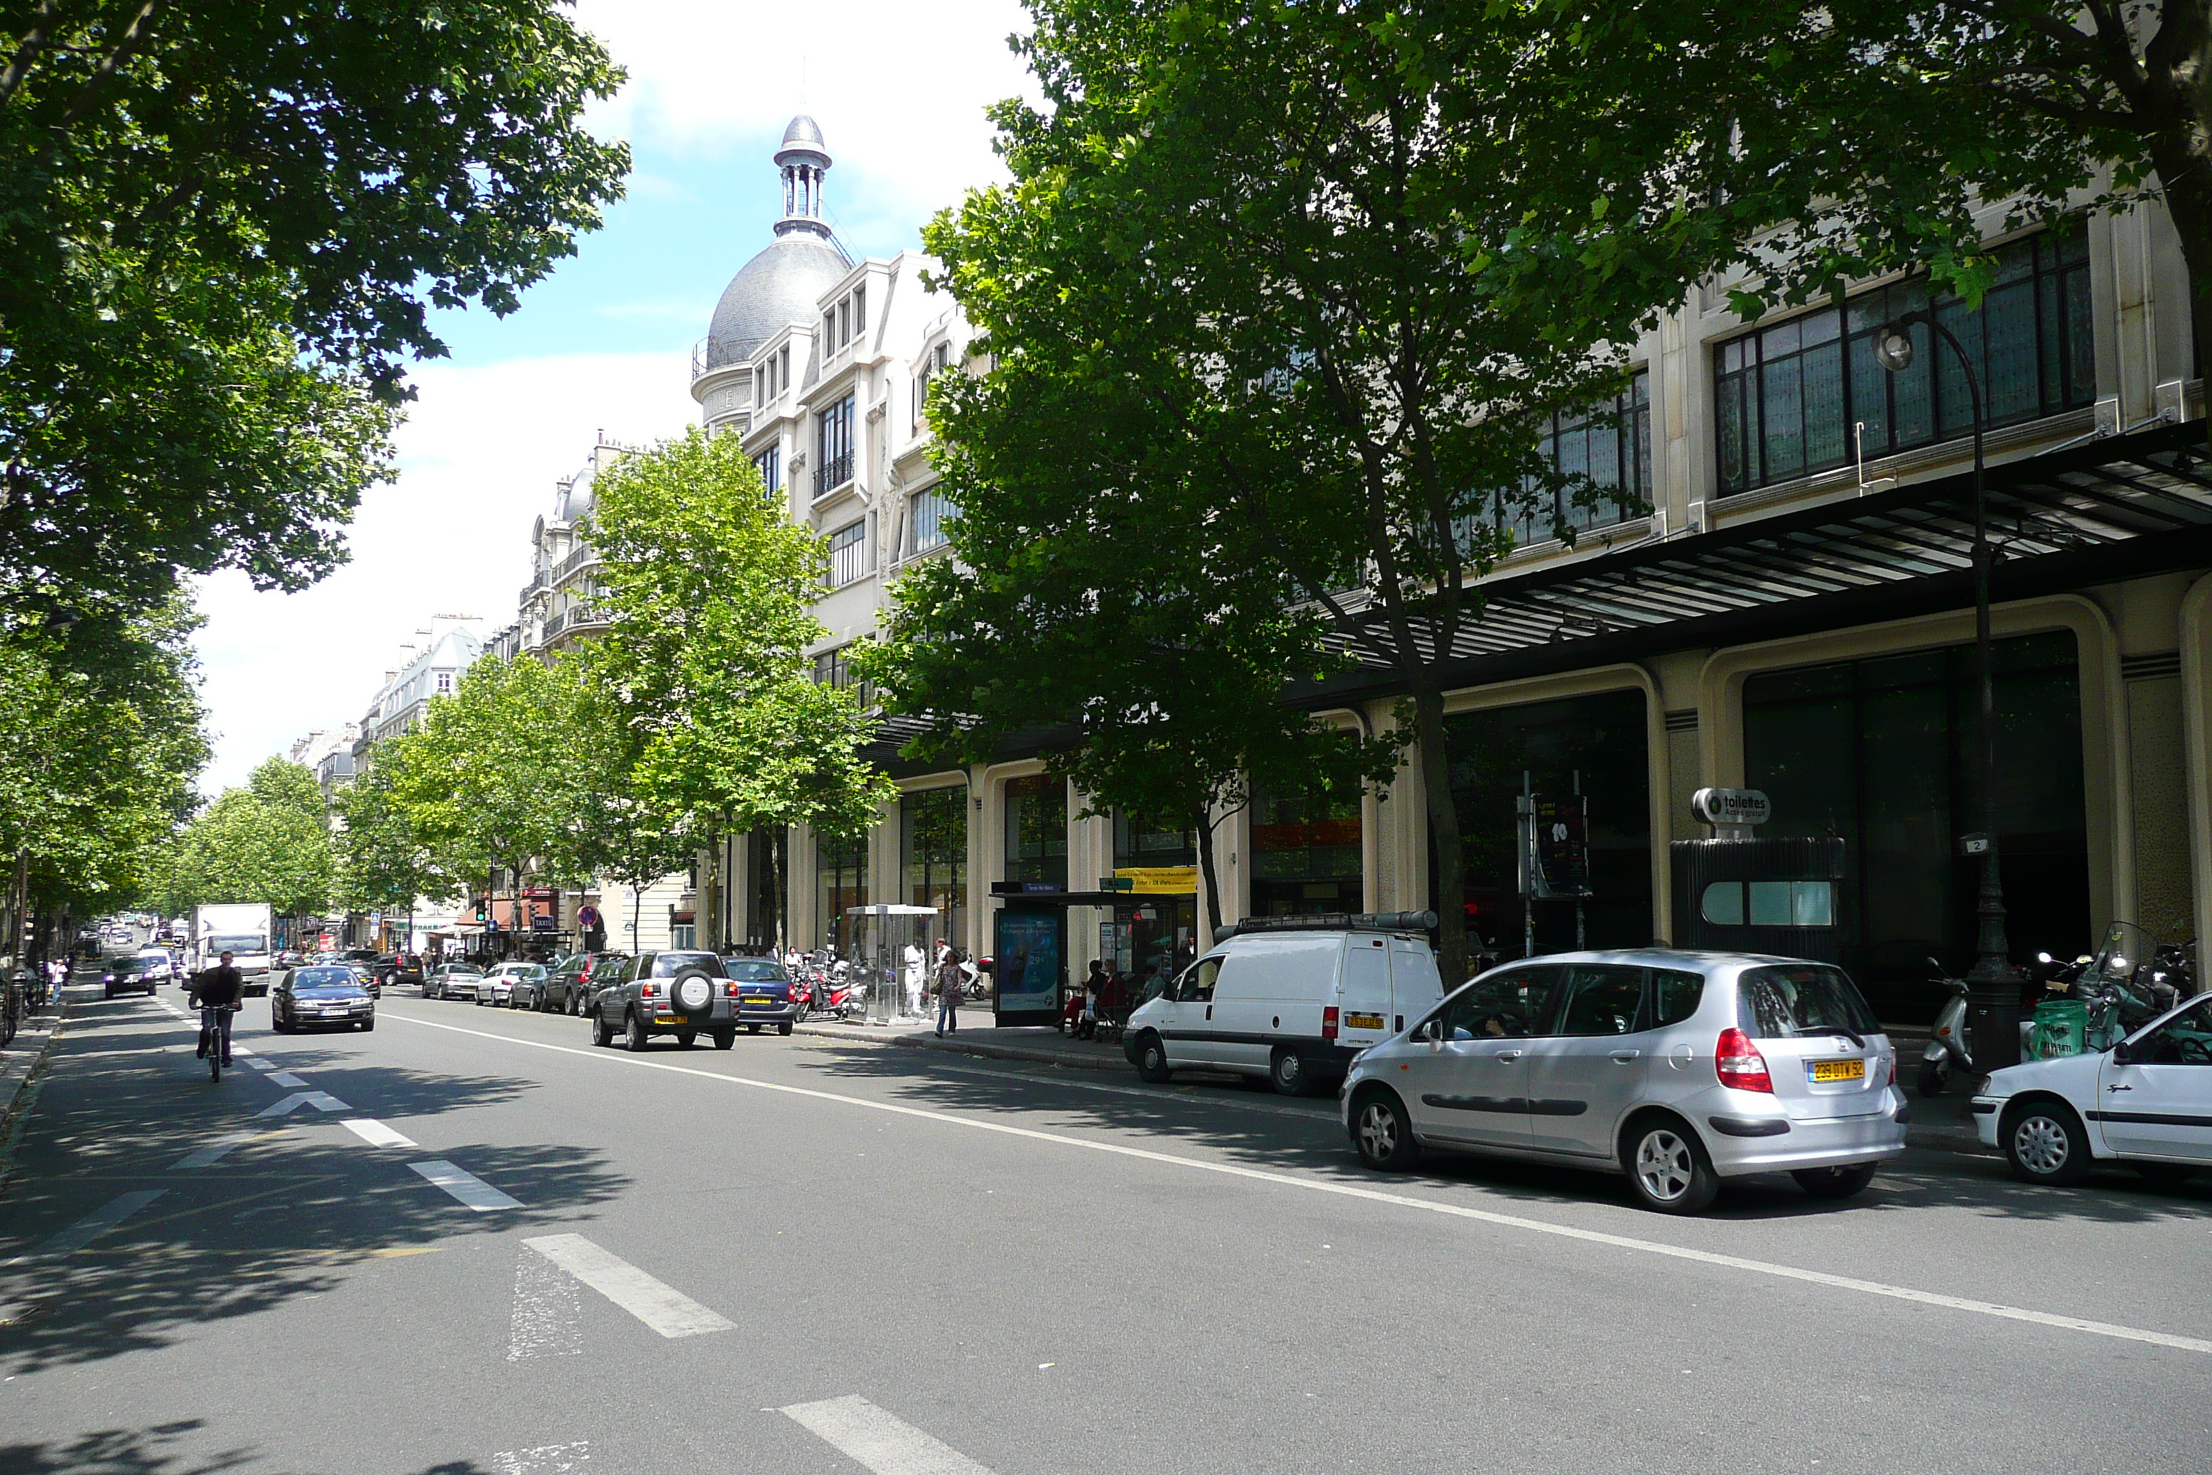
{"type": "Polygon", "coordinates": [[[770,155],[794,113],[836,159],[825,215],[847,250],[891,257],[1004,179],[984,108],[1035,91],[1006,46],[1026,29],[1013,0],[580,0],[575,15],[630,73],[591,115],[630,144],[628,195],[518,312],[440,316],[451,356],[414,369],[398,475],[363,498],[343,568],[299,595],[199,582],[206,796],[356,721],[431,617],[511,621],[531,522],[602,431],[650,442],[697,420],[690,347],[772,239],[770,155]]]}

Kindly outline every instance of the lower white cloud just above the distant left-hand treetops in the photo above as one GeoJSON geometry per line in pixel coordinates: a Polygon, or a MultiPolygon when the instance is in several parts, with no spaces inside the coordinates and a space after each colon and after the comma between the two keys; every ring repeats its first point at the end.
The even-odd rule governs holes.
{"type": "Polygon", "coordinates": [[[316,728],[358,719],[411,630],[431,615],[515,617],[531,522],[593,438],[657,440],[697,418],[681,354],[584,354],[414,372],[400,475],[354,520],[354,559],[299,595],[243,575],[199,586],[197,646],[217,728],[204,794],[316,728]]]}

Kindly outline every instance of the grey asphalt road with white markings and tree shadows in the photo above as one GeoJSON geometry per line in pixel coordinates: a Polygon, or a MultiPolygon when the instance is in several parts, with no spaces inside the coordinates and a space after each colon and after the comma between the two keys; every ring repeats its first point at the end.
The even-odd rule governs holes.
{"type": "Polygon", "coordinates": [[[411,991],[254,1000],[217,1086],[177,1002],[77,1006],[0,1196],[11,1475],[2212,1464],[2208,1185],[1670,1221],[1228,1084],[411,991]]]}

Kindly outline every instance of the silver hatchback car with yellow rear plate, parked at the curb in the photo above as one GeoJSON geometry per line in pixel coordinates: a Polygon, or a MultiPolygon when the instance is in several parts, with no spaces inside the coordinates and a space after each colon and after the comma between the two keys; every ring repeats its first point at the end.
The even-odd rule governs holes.
{"type": "Polygon", "coordinates": [[[1422,1148],[1628,1174],[1666,1214],[1790,1172],[1849,1199],[1905,1150],[1898,1053],[1843,969],[1798,958],[1557,953],[1471,980],[1352,1061],[1369,1168],[1422,1148]]]}

